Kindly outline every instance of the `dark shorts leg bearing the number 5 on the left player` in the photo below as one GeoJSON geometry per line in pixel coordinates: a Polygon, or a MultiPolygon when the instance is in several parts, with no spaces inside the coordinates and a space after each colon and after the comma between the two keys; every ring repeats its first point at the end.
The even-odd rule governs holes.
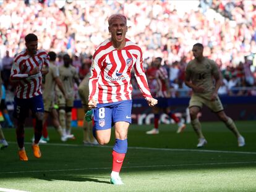
{"type": "Polygon", "coordinates": [[[14,98],[14,117],[18,120],[25,120],[29,114],[28,99],[14,98]]]}

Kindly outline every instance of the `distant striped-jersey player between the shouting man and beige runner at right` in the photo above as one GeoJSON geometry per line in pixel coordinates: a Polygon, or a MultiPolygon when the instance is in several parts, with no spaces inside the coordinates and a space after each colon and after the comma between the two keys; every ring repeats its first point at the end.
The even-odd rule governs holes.
{"type": "Polygon", "coordinates": [[[162,58],[156,57],[153,61],[157,67],[156,70],[156,81],[158,83],[158,90],[156,91],[156,99],[158,100],[158,104],[153,107],[154,113],[154,125],[155,127],[147,131],[147,134],[158,134],[158,122],[159,122],[159,112],[163,110],[165,114],[167,114],[174,122],[177,123],[177,133],[181,133],[186,128],[184,121],[176,117],[175,114],[171,112],[169,107],[169,99],[171,97],[170,90],[169,90],[169,81],[168,81],[168,72],[165,67],[161,66],[162,58]]]}

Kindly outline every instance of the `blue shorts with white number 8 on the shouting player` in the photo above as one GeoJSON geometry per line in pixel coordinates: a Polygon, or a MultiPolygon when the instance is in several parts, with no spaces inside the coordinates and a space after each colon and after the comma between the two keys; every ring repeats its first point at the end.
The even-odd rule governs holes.
{"type": "Polygon", "coordinates": [[[116,122],[132,123],[132,100],[97,104],[93,109],[96,130],[111,128],[116,122]]]}

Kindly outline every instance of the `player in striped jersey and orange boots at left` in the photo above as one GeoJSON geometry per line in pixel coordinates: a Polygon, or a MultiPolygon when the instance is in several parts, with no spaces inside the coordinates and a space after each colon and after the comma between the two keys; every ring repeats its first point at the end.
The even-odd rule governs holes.
{"type": "Polygon", "coordinates": [[[19,145],[20,161],[28,161],[24,148],[24,125],[29,110],[36,119],[35,140],[32,144],[33,154],[36,158],[41,157],[38,142],[43,128],[43,98],[41,91],[42,74],[48,73],[49,57],[42,50],[37,49],[38,38],[30,33],[25,36],[25,46],[22,52],[17,54],[11,70],[11,81],[16,82],[14,97],[14,117],[17,119],[16,136],[19,145]]]}

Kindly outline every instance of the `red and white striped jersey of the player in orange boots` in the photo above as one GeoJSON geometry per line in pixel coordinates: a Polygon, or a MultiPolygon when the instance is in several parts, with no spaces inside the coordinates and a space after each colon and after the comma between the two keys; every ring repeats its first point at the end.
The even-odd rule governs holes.
{"type": "Polygon", "coordinates": [[[19,80],[17,80],[15,91],[15,96],[17,96],[17,98],[28,99],[42,94],[41,69],[43,68],[43,65],[49,67],[49,56],[46,51],[42,49],[36,51],[35,56],[28,55],[26,50],[23,50],[17,54],[11,70],[11,80],[17,80],[17,77],[21,77],[19,80]],[[22,76],[24,74],[28,74],[30,70],[36,66],[38,66],[40,69],[39,73],[26,78],[22,76]]]}

